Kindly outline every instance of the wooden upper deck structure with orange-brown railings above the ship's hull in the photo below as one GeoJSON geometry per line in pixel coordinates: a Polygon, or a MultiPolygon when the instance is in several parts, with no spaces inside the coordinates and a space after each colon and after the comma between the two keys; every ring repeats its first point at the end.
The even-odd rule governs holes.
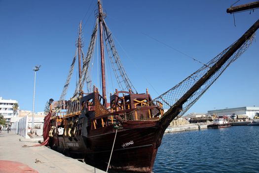
{"type": "MultiPolygon", "coordinates": [[[[164,114],[162,103],[156,101],[154,104],[148,89],[141,94],[116,89],[114,94],[110,94],[110,103],[106,103],[98,88],[93,90],[85,96],[81,93],[77,98],[64,101],[63,110],[51,118],[56,120],[52,121],[52,126],[61,129],[59,136],[91,136],[127,129],[125,122],[157,121],[164,114]]],[[[52,112],[55,105],[56,102],[50,106],[52,112]]],[[[52,133],[50,136],[55,135],[54,130],[52,133]]]]}

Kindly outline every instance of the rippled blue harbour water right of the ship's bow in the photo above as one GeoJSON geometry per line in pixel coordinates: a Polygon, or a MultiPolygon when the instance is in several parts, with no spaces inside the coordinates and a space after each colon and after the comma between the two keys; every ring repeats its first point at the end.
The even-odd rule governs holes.
{"type": "Polygon", "coordinates": [[[259,173],[259,126],[167,133],[154,173],[259,173]]]}

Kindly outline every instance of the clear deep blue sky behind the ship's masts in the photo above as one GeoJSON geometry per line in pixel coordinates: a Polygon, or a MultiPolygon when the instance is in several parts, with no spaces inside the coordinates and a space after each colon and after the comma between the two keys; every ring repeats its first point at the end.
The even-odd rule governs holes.
{"type": "MultiPolygon", "coordinates": [[[[107,25],[137,90],[141,93],[148,88],[155,98],[157,92],[163,93],[201,67],[150,37],[206,63],[259,19],[259,9],[251,14],[237,13],[234,26],[233,15],[227,14],[226,8],[235,1],[103,0],[107,25]]],[[[237,5],[248,2],[251,1],[240,0],[237,5]]],[[[58,100],[76,50],[78,24],[83,21],[86,53],[96,9],[97,0],[0,0],[0,96],[17,100],[21,110],[32,110],[32,69],[41,65],[36,79],[35,111],[43,111],[49,98],[58,100]]],[[[259,106],[258,40],[257,37],[187,113],[259,106]]],[[[98,46],[93,67],[98,66],[98,46]]],[[[96,79],[99,74],[92,73],[93,83],[100,86],[96,79]]],[[[78,70],[67,99],[74,93],[77,74],[78,70]]],[[[111,75],[107,76],[109,80],[111,75]]],[[[109,92],[113,92],[114,83],[108,81],[109,92]]]]}

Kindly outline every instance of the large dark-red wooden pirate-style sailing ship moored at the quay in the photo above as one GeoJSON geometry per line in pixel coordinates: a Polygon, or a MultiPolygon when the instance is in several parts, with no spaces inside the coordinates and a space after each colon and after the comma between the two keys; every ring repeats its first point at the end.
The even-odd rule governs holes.
{"type": "Polygon", "coordinates": [[[44,121],[43,144],[109,172],[150,173],[170,122],[183,116],[230,63],[248,48],[254,32],[259,28],[259,20],[222,53],[175,87],[152,99],[148,89],[145,93],[138,93],[129,80],[105,22],[105,15],[98,0],[97,20],[85,56],[79,25],[76,43],[79,80],[74,95],[65,100],[75,55],[60,99],[50,99],[50,111],[44,121]],[[100,33],[102,87],[99,91],[93,86],[91,92],[85,93],[82,88],[87,81],[97,31],[100,33]],[[120,88],[109,98],[106,94],[104,43],[120,88]]]}

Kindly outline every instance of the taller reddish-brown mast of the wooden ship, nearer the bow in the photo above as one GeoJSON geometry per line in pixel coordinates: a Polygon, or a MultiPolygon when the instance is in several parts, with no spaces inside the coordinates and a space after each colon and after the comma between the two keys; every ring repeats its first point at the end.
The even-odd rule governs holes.
{"type": "Polygon", "coordinates": [[[106,81],[105,81],[105,62],[104,62],[104,43],[103,43],[103,9],[100,0],[98,0],[98,10],[99,10],[99,28],[100,28],[100,49],[101,49],[101,68],[102,68],[102,90],[103,98],[105,99],[105,106],[107,106],[106,99],[106,81]]]}

